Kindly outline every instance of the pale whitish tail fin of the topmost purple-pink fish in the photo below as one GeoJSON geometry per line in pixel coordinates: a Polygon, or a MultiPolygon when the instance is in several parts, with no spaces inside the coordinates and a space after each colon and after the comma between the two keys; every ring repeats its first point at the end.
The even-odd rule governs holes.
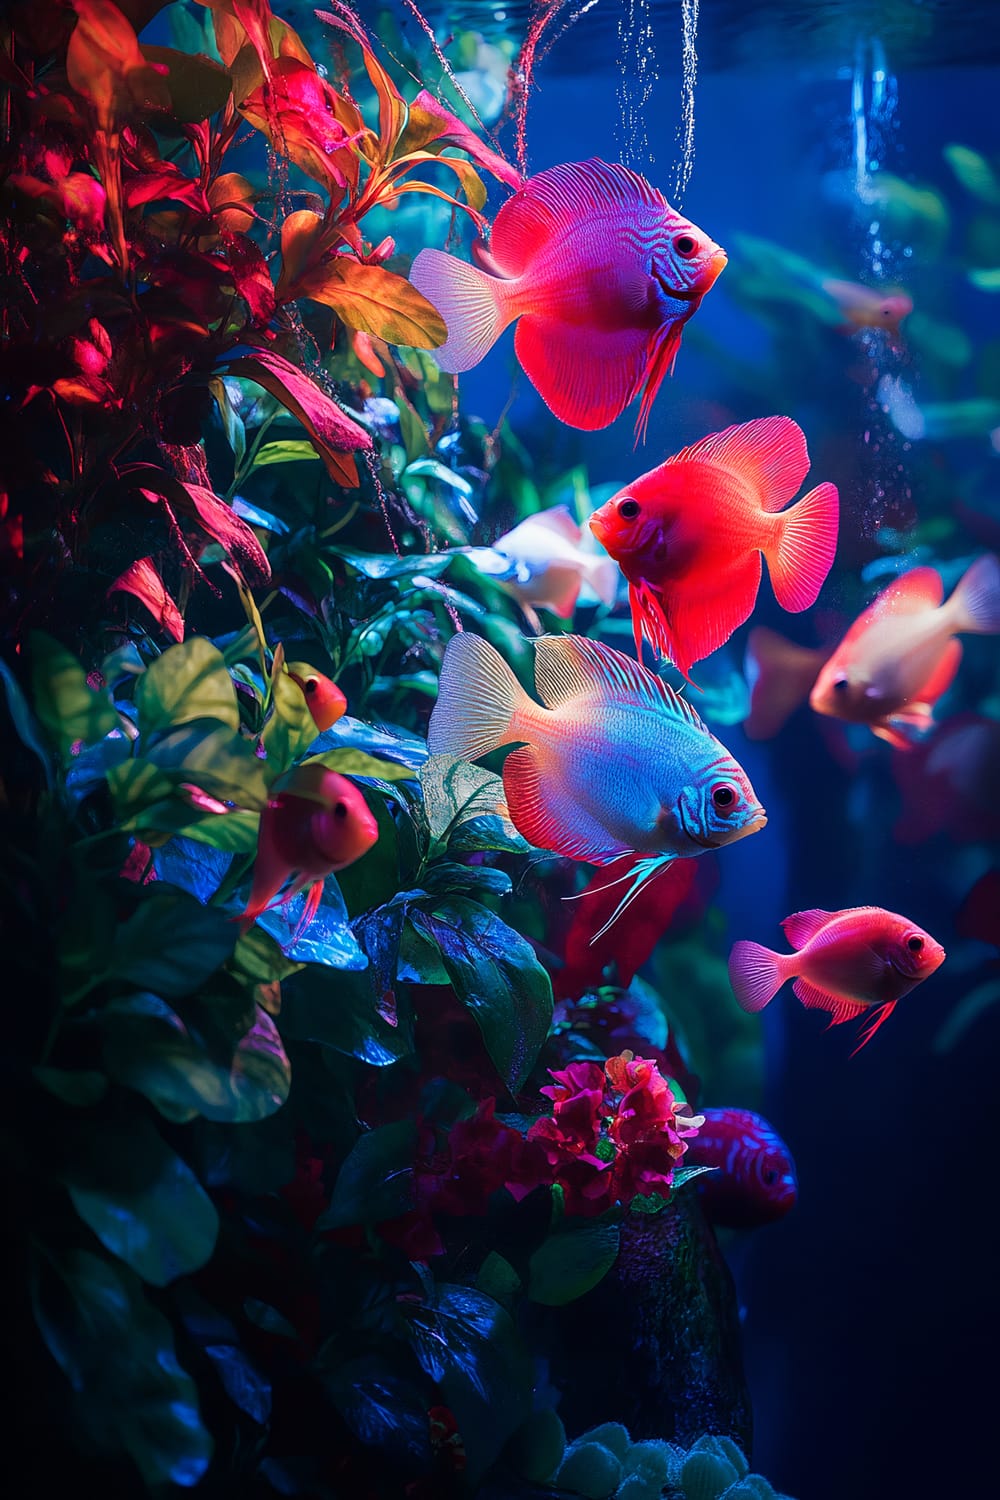
{"type": "Polygon", "coordinates": [[[478,364],[514,316],[508,282],[444,250],[421,250],[409,279],[447,324],[448,338],[433,354],[448,375],[478,364]]]}

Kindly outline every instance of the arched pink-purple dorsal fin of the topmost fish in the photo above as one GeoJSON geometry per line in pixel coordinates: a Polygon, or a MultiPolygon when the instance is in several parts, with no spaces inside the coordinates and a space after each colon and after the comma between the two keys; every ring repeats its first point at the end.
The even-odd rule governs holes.
{"type": "Polygon", "coordinates": [[[640,207],[669,213],[663,194],[627,166],[594,156],[564,162],[532,177],[501,207],[489,254],[504,276],[523,276],[556,237],[565,237],[598,213],[619,210],[628,224],[640,207]]]}

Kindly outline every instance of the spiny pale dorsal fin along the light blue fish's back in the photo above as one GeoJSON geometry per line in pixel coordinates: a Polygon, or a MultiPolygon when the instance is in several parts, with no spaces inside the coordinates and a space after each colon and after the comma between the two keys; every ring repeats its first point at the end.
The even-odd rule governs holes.
{"type": "Polygon", "coordinates": [[[535,640],[535,686],[546,708],[574,698],[610,698],[654,708],[709,730],[687,699],[639,662],[586,636],[540,636],[535,640]]]}

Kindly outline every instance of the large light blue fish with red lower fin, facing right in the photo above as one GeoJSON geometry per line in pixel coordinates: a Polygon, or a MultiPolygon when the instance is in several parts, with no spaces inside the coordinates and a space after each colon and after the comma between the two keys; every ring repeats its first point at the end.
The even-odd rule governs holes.
{"type": "Polygon", "coordinates": [[[504,792],[529,843],[601,866],[648,856],[621,878],[631,884],[597,939],[672,860],[745,838],[768,819],[742,766],[661,678],[585,636],[532,645],[544,706],[487,640],[453,636],[427,747],[475,760],[520,744],[504,762],[504,792]]]}

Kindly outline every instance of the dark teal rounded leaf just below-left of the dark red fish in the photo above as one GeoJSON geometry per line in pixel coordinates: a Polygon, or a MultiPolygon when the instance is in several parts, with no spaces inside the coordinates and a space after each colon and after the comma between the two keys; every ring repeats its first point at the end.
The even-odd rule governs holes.
{"type": "Polygon", "coordinates": [[[190,994],[226,962],[235,939],[225,912],[157,880],[118,927],[108,972],[168,998],[190,994]]]}

